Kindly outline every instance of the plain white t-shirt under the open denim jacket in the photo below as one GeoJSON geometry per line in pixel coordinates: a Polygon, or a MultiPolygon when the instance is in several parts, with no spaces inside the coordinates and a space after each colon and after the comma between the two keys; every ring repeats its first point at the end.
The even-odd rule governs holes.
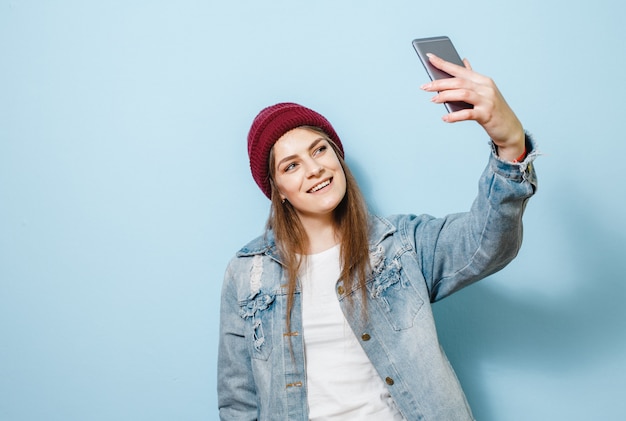
{"type": "Polygon", "coordinates": [[[339,252],[307,256],[301,274],[309,419],[404,420],[339,307],[339,252]]]}

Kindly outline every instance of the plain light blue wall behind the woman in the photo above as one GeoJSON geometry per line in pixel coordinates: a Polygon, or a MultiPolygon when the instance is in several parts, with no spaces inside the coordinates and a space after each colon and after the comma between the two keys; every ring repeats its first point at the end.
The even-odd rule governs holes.
{"type": "Polygon", "coordinates": [[[217,418],[266,105],[325,114],[374,211],[468,208],[487,139],[440,121],[411,47],[440,34],[544,153],[519,257],[436,305],[475,415],[626,419],[618,4],[1,0],[0,419],[217,418]]]}

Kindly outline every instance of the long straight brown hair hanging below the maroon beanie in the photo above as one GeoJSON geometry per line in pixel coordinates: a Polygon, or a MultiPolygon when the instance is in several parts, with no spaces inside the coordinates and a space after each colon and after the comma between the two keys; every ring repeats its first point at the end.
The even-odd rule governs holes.
{"type": "MultiPolygon", "coordinates": [[[[319,133],[332,146],[346,177],[346,194],[333,212],[335,231],[341,239],[340,260],[344,288],[351,303],[353,283],[356,280],[363,296],[363,310],[366,306],[367,291],[365,282],[369,270],[369,221],[368,211],[356,179],[339,153],[337,145],[318,127],[301,126],[319,133]]],[[[300,222],[296,210],[289,202],[282,202],[274,182],[275,159],[270,151],[269,174],[272,188],[272,206],[267,220],[267,229],[274,231],[278,251],[287,272],[287,330],[291,329],[291,310],[296,291],[298,273],[309,248],[309,239],[300,222]]]]}

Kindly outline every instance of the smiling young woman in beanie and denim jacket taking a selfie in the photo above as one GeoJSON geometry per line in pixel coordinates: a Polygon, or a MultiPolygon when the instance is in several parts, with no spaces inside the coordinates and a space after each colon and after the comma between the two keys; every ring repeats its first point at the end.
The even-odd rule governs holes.
{"type": "Polygon", "coordinates": [[[495,84],[435,56],[455,78],[422,88],[492,141],[466,213],[370,215],[330,122],[294,103],[262,110],[252,176],[271,200],[265,235],[226,270],[222,420],[472,420],[430,303],[510,262],[536,189],[534,145],[495,84]]]}

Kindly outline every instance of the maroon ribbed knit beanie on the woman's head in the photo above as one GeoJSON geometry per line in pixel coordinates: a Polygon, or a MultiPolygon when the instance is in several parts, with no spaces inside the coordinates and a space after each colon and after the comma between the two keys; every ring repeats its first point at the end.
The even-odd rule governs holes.
{"type": "Polygon", "coordinates": [[[289,130],[300,126],[319,127],[335,142],[343,158],[343,146],[330,122],[321,114],[292,102],[282,102],[264,108],[255,117],[248,132],[248,157],[252,178],[263,193],[271,198],[269,156],[274,143],[289,130]]]}

